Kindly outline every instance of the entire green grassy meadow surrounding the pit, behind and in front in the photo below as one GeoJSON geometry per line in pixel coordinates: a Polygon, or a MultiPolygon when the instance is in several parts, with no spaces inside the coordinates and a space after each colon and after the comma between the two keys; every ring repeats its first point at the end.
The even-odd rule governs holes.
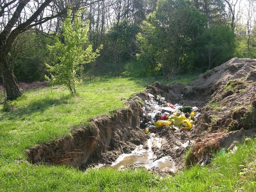
{"type": "Polygon", "coordinates": [[[125,106],[124,101],[152,82],[152,78],[94,78],[91,84],[84,80],[75,96],[62,87],[46,87],[0,104],[0,192],[256,191],[256,139],[239,144],[234,154],[215,154],[209,166],[193,166],[166,177],[144,169],[81,171],[26,161],[27,148],[70,134],[72,126],[125,106]]]}

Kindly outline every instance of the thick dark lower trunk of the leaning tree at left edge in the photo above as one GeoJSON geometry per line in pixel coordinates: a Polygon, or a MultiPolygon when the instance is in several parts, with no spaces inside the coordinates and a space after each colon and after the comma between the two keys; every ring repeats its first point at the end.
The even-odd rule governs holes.
{"type": "Polygon", "coordinates": [[[17,80],[13,73],[12,64],[8,56],[3,53],[0,56],[0,75],[4,90],[6,92],[7,100],[14,100],[19,96],[22,96],[22,93],[18,88],[17,80]]]}

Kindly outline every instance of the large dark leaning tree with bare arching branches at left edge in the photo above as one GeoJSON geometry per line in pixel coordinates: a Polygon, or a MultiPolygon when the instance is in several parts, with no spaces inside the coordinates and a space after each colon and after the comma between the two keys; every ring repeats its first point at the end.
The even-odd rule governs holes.
{"type": "Polygon", "coordinates": [[[0,2],[0,25],[2,28],[0,32],[0,76],[8,100],[14,100],[22,95],[8,56],[17,36],[62,15],[71,4],[74,8],[78,8],[80,5],[88,5],[92,2],[66,0],[63,8],[58,12],[51,11],[51,8],[59,3],[58,0],[4,0],[0,2]]]}

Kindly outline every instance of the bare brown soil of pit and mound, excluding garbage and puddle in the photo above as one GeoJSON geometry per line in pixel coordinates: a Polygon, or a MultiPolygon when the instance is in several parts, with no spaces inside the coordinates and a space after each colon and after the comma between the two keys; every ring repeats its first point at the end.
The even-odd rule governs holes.
{"type": "MultiPolygon", "coordinates": [[[[86,169],[100,163],[111,164],[120,154],[130,153],[140,144],[147,148],[150,135],[140,127],[140,115],[148,93],[165,97],[172,104],[197,106],[201,113],[187,135],[169,127],[158,128],[155,136],[162,138],[162,147],[153,143],[156,157],[171,156],[180,170],[185,165],[186,149],[182,144],[188,139],[195,143],[187,165],[197,163],[212,150],[232,149],[234,142],[256,134],[255,66],[256,60],[233,58],[200,75],[189,86],[156,82],[128,100],[128,107],[113,111],[111,116],[98,116],[90,120],[92,126],[73,127],[72,135],[27,150],[28,161],[86,169]]],[[[152,170],[159,172],[158,168],[152,170]]]]}

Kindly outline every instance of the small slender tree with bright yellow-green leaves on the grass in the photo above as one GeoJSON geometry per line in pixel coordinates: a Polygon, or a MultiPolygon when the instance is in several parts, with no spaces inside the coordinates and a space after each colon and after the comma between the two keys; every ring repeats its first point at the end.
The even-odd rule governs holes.
{"type": "Polygon", "coordinates": [[[93,62],[99,56],[102,46],[93,52],[87,38],[89,24],[84,26],[81,12],[75,15],[72,24],[70,14],[68,12],[62,26],[64,43],[60,42],[57,35],[55,44],[48,46],[54,55],[54,62],[46,64],[50,76],[45,78],[51,86],[64,85],[74,94],[78,84],[82,83],[79,74],[83,70],[83,64],[93,62]]]}

